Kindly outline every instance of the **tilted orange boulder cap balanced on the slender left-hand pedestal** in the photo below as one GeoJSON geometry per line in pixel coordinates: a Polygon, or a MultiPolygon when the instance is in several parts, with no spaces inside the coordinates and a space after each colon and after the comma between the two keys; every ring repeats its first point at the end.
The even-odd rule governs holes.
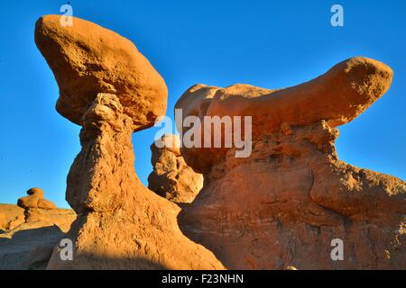
{"type": "Polygon", "coordinates": [[[60,87],[57,110],[82,124],[82,115],[98,93],[115,94],[134,130],[152,126],[166,110],[167,87],[134,44],[106,28],[73,17],[61,25],[60,15],[41,17],[35,43],[60,87]]]}

